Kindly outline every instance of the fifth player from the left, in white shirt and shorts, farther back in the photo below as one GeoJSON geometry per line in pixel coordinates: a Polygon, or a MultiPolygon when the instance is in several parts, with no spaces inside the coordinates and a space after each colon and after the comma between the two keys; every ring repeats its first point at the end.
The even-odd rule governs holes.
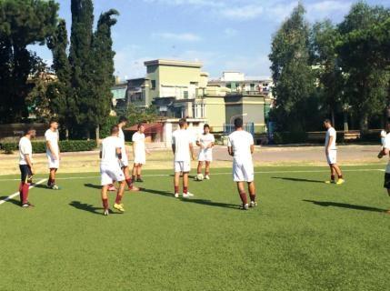
{"type": "Polygon", "coordinates": [[[139,124],[137,126],[138,131],[132,136],[133,141],[133,181],[144,182],[141,177],[142,166],[146,164],[146,153],[149,151],[145,146],[145,125],[139,124]]]}

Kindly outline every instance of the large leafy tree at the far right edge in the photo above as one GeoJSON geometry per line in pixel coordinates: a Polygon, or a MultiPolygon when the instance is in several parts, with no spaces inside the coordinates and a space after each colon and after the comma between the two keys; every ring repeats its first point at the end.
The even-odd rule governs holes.
{"type": "MultiPolygon", "coordinates": [[[[344,21],[338,25],[341,41],[337,44],[337,52],[346,75],[346,98],[359,117],[362,131],[368,129],[369,116],[382,115],[384,112],[389,74],[383,65],[379,65],[383,58],[375,53],[375,43],[371,43],[369,37],[356,42],[354,35],[366,35],[369,30],[384,25],[389,17],[388,9],[360,2],[352,6],[344,21]]],[[[386,34],[388,32],[384,31],[382,37],[386,34]]]]}

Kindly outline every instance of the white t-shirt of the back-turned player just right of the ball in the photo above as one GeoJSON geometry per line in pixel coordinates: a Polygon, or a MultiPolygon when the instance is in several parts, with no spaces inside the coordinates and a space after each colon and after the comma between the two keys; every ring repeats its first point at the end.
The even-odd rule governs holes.
{"type": "Polygon", "coordinates": [[[227,140],[227,146],[233,147],[235,159],[241,161],[252,160],[251,146],[254,144],[254,136],[245,130],[236,130],[227,140]]]}

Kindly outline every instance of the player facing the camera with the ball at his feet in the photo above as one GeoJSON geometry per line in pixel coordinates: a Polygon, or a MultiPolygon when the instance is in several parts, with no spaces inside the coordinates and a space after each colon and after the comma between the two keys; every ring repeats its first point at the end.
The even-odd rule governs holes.
{"type": "Polygon", "coordinates": [[[202,175],[202,167],[205,163],[205,179],[210,180],[210,164],[213,161],[213,146],[215,146],[215,137],[210,134],[210,126],[203,126],[204,133],[196,141],[196,145],[200,147],[198,164],[197,164],[197,175],[202,175]]]}

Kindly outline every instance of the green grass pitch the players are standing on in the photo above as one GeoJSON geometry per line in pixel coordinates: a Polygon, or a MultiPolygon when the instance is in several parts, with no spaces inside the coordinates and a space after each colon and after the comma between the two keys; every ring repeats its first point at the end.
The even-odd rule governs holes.
{"type": "MultiPolygon", "coordinates": [[[[322,183],[326,167],[257,168],[249,211],[229,169],[192,182],[188,200],[172,196],[168,171],[145,172],[126,213],[108,217],[96,173],[60,174],[62,190],[31,190],[34,209],[0,205],[0,290],[387,290],[390,198],[377,168],[344,167],[343,186],[322,183]]],[[[0,177],[0,199],[12,178],[0,177]]]]}

